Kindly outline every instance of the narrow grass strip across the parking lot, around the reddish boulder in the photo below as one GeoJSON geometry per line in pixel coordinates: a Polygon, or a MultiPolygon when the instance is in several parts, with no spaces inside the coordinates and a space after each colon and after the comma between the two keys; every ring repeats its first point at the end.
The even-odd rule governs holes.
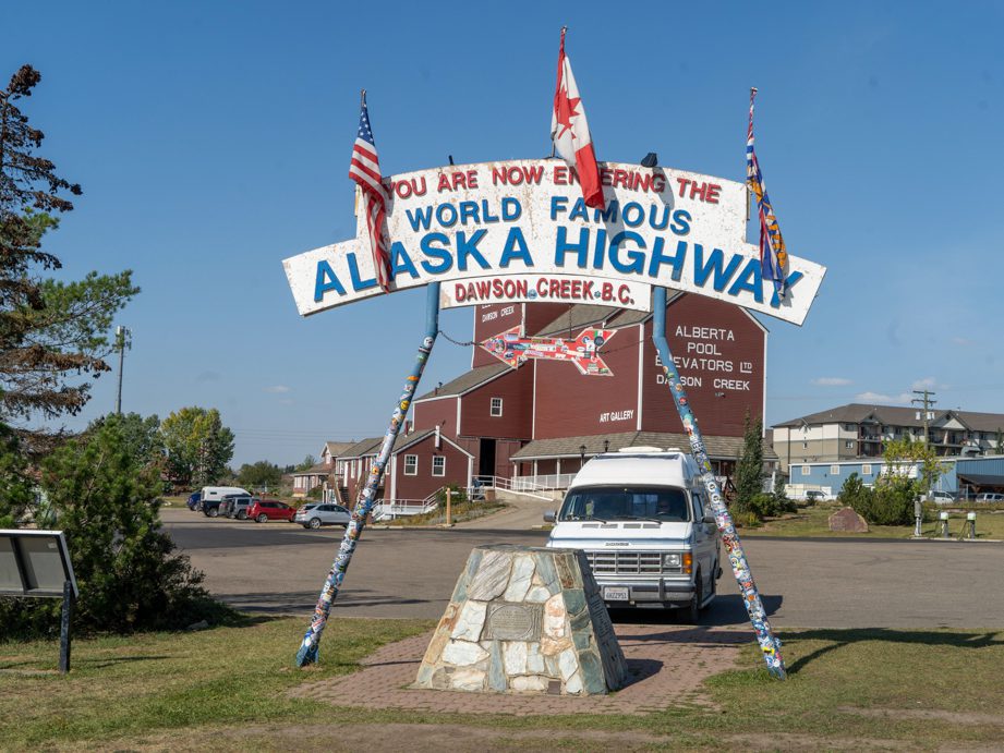
{"type": "MultiPolygon", "coordinates": [[[[828,519],[840,509],[837,502],[816,503],[800,507],[798,512],[784,518],[770,519],[760,526],[739,529],[740,536],[850,536],[857,538],[909,538],[912,525],[869,525],[868,533],[845,533],[831,531],[828,519]]],[[[934,513],[938,514],[936,512],[934,513]]],[[[948,533],[958,538],[964,530],[966,511],[948,509],[948,533]]],[[[1004,539],[1004,511],[976,509],[977,538],[1004,539]]],[[[928,521],[921,526],[924,536],[941,537],[941,522],[928,521]]]]}

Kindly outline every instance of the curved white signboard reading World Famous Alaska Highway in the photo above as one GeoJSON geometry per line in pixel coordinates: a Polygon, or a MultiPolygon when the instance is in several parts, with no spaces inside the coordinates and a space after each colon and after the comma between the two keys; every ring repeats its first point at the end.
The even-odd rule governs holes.
{"type": "MultiPolygon", "coordinates": [[[[568,301],[648,309],[663,286],[800,325],[825,268],[789,257],[779,297],[746,241],[742,183],[601,163],[606,209],[584,206],[554,159],[448,166],[385,179],[394,288],[441,282],[446,305],[568,301]],[[509,282],[510,284],[506,284],[509,282]]],[[[383,291],[365,222],[358,240],[283,262],[301,315],[383,291]]]]}

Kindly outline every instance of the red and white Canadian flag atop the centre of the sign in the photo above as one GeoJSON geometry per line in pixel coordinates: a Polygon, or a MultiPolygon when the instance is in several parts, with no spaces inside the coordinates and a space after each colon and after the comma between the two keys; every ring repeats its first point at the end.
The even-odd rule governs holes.
{"type": "Polygon", "coordinates": [[[585,206],[605,208],[603,186],[593,139],[589,135],[585,108],[579,97],[579,87],[571,73],[571,61],[565,54],[565,31],[561,29],[561,48],[558,51],[558,85],[554,93],[554,113],[551,116],[551,141],[555,151],[579,173],[585,206]]]}

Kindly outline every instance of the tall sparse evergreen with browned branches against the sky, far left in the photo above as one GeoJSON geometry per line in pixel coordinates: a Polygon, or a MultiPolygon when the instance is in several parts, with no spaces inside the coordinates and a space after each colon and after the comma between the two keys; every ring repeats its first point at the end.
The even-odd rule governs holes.
{"type": "Polygon", "coordinates": [[[80,282],[38,277],[61,266],[43,238],[58,226],[56,212],[73,209],[66,194],[81,194],[36,154],[45,135],[20,109],[40,78],[23,65],[0,90],[0,422],[8,423],[78,412],[87,379],[109,369],[111,317],[138,292],[129,271],[80,282]]]}

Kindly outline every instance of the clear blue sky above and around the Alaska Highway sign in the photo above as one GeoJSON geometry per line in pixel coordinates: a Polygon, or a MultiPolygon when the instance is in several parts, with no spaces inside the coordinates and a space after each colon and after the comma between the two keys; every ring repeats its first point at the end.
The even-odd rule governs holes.
{"type": "MultiPolygon", "coordinates": [[[[217,406],[234,462],[298,462],[383,433],[424,294],[301,319],[281,259],[354,233],[359,89],[386,174],[549,153],[569,25],[600,159],[745,177],[758,155],[788,248],[828,267],[801,328],[771,329],[767,423],[936,392],[1004,413],[1004,5],[944,3],[29,3],[5,77],[84,195],[50,248],[68,278],[143,292],[123,405],[217,406]],[[572,14],[573,13],[573,14],[572,14]]],[[[465,339],[471,311],[445,312],[465,339]]],[[[470,352],[440,339],[427,384],[470,352]]],[[[81,428],[112,409],[98,380],[81,428]]],[[[700,416],[699,416],[700,417],[700,416]]]]}

